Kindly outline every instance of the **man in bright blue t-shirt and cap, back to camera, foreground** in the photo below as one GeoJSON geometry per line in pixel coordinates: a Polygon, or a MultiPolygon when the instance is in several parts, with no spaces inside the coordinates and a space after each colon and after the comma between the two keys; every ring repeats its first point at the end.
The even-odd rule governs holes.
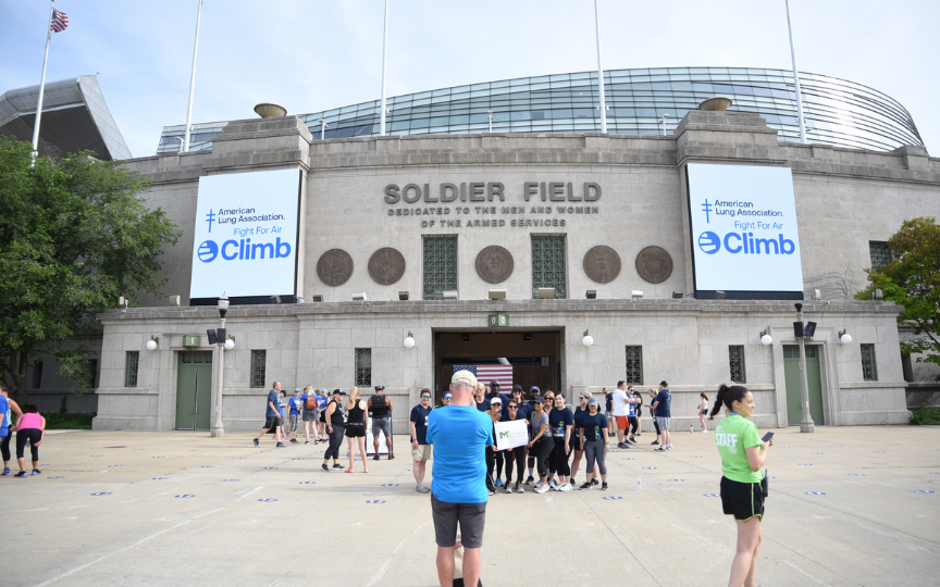
{"type": "Polygon", "coordinates": [[[450,378],[453,404],[434,410],[428,419],[428,442],[434,445],[431,512],[437,542],[437,578],[454,582],[457,523],[463,544],[463,584],[480,579],[483,526],[486,523],[485,448],[493,440],[493,420],[473,405],[477,377],[458,371],[450,378]]]}

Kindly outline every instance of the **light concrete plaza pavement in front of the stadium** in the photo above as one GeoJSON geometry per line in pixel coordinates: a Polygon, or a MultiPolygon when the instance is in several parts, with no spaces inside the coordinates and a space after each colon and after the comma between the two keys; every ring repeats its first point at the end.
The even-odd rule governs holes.
{"type": "MultiPolygon", "coordinates": [[[[758,585],[940,583],[940,428],[775,432],[758,585]]],[[[640,440],[610,451],[607,491],[491,497],[483,584],[727,584],[713,435],[640,440]]],[[[0,478],[0,584],[436,585],[429,496],[395,442],[368,475],[327,474],[323,445],[50,432],[42,475],[0,478]]]]}

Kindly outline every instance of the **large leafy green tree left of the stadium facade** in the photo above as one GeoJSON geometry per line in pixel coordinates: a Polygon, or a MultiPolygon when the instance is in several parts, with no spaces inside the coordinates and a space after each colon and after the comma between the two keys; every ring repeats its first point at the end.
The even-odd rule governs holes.
{"type": "Polygon", "coordinates": [[[21,404],[41,354],[76,392],[90,388],[91,350],[76,337],[98,333],[95,315],[120,296],[159,294],[161,250],[182,234],[137,197],[149,179],[120,162],[85,151],[33,165],[30,151],[0,137],[0,370],[21,404]]]}

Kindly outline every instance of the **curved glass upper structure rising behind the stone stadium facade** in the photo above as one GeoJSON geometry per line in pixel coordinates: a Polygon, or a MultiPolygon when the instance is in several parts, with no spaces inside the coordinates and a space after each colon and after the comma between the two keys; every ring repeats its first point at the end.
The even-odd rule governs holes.
{"type": "MultiPolygon", "coordinates": [[[[799,141],[792,72],[751,67],[663,67],[604,72],[607,132],[666,134],[698,103],[715,96],[733,100],[729,111],[753,112],[799,141]]],[[[801,73],[808,142],[891,151],[924,147],[911,114],[875,89],[825,75],[801,73]]],[[[477,133],[599,133],[597,72],[521,77],[396,96],[386,100],[386,135],[477,133]],[[492,121],[490,116],[492,115],[492,121]]],[[[373,100],[299,115],[314,139],[380,135],[381,102],[373,100]],[[327,127],[321,135],[321,121],[327,127]]],[[[211,149],[225,122],[194,125],[190,150],[211,149]]],[[[185,125],[166,126],[159,153],[180,150],[185,125]]]]}

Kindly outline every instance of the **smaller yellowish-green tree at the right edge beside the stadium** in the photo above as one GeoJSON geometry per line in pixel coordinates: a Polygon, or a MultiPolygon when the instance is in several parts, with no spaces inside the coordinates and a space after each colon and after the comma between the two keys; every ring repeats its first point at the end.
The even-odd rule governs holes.
{"type": "Polygon", "coordinates": [[[886,300],[903,305],[898,324],[912,328],[914,339],[902,341],[901,352],[940,365],[940,225],[932,217],[904,221],[888,248],[893,259],[868,272],[871,283],[855,298],[870,299],[880,289],[886,300]]]}

